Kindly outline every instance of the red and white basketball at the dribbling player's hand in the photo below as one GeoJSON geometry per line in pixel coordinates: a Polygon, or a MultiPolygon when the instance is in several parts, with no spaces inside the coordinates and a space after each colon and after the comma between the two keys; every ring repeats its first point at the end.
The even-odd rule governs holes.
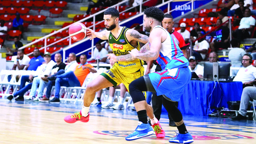
{"type": "Polygon", "coordinates": [[[68,33],[73,40],[81,41],[86,36],[86,27],[81,22],[75,22],[69,27],[68,33]]]}

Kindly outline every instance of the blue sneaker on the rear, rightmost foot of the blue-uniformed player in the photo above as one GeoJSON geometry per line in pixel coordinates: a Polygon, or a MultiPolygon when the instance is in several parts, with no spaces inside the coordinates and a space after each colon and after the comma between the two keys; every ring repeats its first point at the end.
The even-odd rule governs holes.
{"type": "Polygon", "coordinates": [[[188,132],[186,134],[177,133],[174,138],[169,140],[169,142],[173,142],[173,143],[191,143],[191,142],[194,142],[194,140],[193,140],[191,134],[188,132]]]}

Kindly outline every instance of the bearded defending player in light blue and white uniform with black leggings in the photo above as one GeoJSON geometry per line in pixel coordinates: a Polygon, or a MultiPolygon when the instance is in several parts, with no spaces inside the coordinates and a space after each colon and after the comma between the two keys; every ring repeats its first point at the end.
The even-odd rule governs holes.
{"type": "Polygon", "coordinates": [[[156,7],[147,8],[144,11],[143,20],[146,31],[150,32],[148,43],[140,51],[133,49],[129,52],[132,58],[130,58],[129,54],[127,54],[127,58],[124,56],[122,58],[118,56],[110,57],[112,61],[157,60],[162,68],[162,71],[141,76],[129,85],[130,94],[140,122],[135,131],[126,137],[126,140],[135,140],[143,135],[149,135],[150,128],[146,125],[147,102],[142,93],[143,91],[149,91],[156,92],[157,95],[163,95],[163,105],[172,116],[179,130],[179,133],[174,138],[171,138],[169,142],[191,143],[194,140],[186,129],[180,110],[175,106],[175,102],[180,100],[184,86],[191,79],[191,72],[188,69],[188,60],[184,57],[178,44],[169,32],[161,27],[163,19],[164,12],[162,10],[156,7]]]}

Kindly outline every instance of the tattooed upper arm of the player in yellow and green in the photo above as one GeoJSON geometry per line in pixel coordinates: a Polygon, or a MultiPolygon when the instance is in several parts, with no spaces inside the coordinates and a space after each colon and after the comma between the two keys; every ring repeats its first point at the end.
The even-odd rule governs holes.
{"type": "Polygon", "coordinates": [[[138,31],[134,29],[128,29],[125,33],[125,36],[127,37],[128,41],[138,41],[143,44],[146,44],[148,42],[148,36],[140,34],[138,31]]]}

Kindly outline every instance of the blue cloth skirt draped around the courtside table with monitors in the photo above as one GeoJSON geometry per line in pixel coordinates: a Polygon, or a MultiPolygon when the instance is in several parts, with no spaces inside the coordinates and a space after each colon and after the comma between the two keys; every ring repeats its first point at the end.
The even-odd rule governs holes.
{"type": "Polygon", "coordinates": [[[243,91],[242,82],[220,82],[220,86],[217,82],[215,83],[215,89],[213,90],[213,81],[191,80],[185,87],[184,93],[179,101],[178,108],[181,113],[187,115],[206,116],[207,114],[212,113],[209,109],[209,102],[210,107],[218,106],[228,108],[228,101],[241,100],[243,91]],[[222,91],[220,90],[220,87],[222,91]],[[212,96],[209,98],[211,92],[212,96]],[[219,102],[220,104],[218,105],[219,102]]]}

